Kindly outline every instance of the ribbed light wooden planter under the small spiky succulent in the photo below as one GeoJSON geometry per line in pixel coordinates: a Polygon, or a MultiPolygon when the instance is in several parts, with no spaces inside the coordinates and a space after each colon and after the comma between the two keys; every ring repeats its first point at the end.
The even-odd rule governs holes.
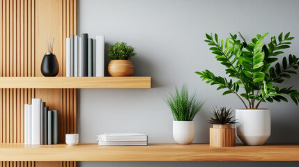
{"type": "Polygon", "coordinates": [[[233,147],[236,145],[236,131],[231,125],[213,125],[210,127],[211,147],[233,147]]]}

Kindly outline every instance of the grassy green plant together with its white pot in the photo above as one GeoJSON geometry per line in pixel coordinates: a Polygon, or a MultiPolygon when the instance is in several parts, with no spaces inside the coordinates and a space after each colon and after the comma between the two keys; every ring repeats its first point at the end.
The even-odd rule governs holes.
{"type": "Polygon", "coordinates": [[[176,88],[174,94],[167,95],[165,102],[168,104],[174,116],[173,136],[178,144],[190,144],[194,138],[194,116],[204,104],[197,100],[195,93],[188,95],[187,86],[181,91],[176,88]]]}

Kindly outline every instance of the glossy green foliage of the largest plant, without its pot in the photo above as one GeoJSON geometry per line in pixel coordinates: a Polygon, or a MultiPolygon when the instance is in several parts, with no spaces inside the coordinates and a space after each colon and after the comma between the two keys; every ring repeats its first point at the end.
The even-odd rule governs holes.
{"type": "Polygon", "coordinates": [[[284,49],[290,48],[290,33],[280,33],[278,38],[271,37],[265,44],[263,40],[268,33],[256,35],[250,43],[247,43],[242,34],[230,34],[230,38],[222,40],[215,33],[206,34],[205,42],[215,54],[215,58],[224,65],[226,77],[215,76],[213,72],[204,70],[195,72],[199,74],[207,84],[217,85],[217,90],[226,89],[223,95],[235,94],[244,104],[246,109],[257,109],[261,102],[288,102],[286,95],[298,105],[298,90],[279,88],[276,84],[290,79],[292,74],[297,74],[299,58],[290,54],[284,56],[281,63],[277,63],[277,56],[284,54],[284,49]],[[225,41],[225,42],[224,42],[225,41]],[[239,93],[239,88],[244,91],[239,93]]]}

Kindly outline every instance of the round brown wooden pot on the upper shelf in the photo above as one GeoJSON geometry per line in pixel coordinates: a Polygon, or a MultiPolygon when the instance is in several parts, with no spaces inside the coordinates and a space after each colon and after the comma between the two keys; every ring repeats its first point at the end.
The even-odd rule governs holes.
{"type": "Polygon", "coordinates": [[[130,77],[134,73],[134,65],[128,60],[112,60],[109,62],[108,72],[112,77],[130,77]]]}

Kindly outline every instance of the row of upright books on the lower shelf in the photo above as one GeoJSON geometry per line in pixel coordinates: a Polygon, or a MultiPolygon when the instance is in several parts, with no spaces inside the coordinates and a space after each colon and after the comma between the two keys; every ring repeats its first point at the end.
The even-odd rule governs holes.
{"type": "Polygon", "coordinates": [[[58,110],[49,110],[41,99],[24,105],[24,144],[52,145],[58,143],[58,110]]]}

